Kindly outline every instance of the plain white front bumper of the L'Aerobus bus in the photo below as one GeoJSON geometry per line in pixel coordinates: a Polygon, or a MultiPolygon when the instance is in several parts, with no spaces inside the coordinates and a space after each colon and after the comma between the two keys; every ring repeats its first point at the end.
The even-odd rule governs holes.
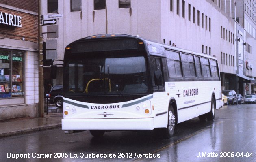
{"type": "Polygon", "coordinates": [[[62,130],[153,130],[154,118],[62,119],[62,130]]]}

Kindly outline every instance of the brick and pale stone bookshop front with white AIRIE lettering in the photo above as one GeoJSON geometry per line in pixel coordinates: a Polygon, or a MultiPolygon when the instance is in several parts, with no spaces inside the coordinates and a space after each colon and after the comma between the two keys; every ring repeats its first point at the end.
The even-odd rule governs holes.
{"type": "Polygon", "coordinates": [[[38,116],[38,6],[15,5],[0,2],[0,120],[38,116]]]}

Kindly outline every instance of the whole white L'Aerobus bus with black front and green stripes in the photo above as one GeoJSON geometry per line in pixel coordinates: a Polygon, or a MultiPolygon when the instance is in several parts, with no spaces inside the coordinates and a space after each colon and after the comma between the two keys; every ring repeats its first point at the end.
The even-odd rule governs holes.
{"type": "Polygon", "coordinates": [[[221,107],[216,58],[136,36],[103,34],[67,45],[63,60],[65,133],[162,128],[213,120],[221,107]]]}

